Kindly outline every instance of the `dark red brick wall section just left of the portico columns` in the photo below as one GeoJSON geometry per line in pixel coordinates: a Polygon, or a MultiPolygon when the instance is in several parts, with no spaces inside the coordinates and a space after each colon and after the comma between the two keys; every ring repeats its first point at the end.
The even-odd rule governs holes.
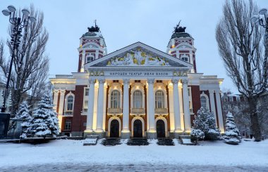
{"type": "Polygon", "coordinates": [[[87,86],[75,86],[75,106],[73,108],[72,131],[85,130],[83,123],[87,121],[87,116],[81,115],[83,109],[84,87],[87,86]]]}

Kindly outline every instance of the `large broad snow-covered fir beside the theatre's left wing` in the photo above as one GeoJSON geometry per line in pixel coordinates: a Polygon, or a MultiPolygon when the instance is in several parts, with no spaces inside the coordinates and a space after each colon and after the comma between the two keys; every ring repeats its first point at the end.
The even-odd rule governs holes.
{"type": "Polygon", "coordinates": [[[32,122],[29,132],[32,135],[45,138],[47,135],[56,137],[59,135],[59,120],[53,110],[51,93],[45,93],[38,103],[37,109],[32,114],[32,122]]]}

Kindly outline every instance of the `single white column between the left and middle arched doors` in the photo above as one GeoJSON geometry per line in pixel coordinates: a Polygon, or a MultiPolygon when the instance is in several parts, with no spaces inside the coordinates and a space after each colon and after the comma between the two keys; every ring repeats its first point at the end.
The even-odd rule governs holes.
{"type": "Polygon", "coordinates": [[[129,79],[123,79],[123,133],[129,133],[129,79]]]}

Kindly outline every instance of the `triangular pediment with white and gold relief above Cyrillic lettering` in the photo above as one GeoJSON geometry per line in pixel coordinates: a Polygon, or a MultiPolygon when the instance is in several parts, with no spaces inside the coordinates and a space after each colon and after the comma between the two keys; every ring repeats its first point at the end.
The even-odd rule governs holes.
{"type": "Polygon", "coordinates": [[[88,62],[85,67],[193,67],[188,62],[137,42],[88,62]]]}

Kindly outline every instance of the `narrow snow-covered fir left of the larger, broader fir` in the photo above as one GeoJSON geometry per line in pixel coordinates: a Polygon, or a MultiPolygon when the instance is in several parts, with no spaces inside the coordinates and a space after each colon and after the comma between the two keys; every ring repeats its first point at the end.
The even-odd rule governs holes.
{"type": "Polygon", "coordinates": [[[16,118],[23,119],[23,123],[20,124],[22,126],[22,133],[20,135],[20,138],[27,138],[29,133],[29,126],[32,121],[32,117],[30,116],[30,110],[28,102],[23,101],[20,103],[20,108],[18,112],[16,113],[16,118]]]}

